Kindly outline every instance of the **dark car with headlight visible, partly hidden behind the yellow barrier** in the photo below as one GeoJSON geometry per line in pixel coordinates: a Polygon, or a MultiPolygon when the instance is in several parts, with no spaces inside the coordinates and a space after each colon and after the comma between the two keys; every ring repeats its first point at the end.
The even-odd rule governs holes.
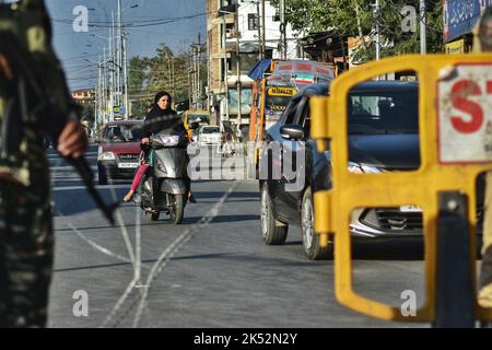
{"type": "MultiPolygon", "coordinates": [[[[315,84],[295,95],[279,121],[267,131],[260,160],[260,166],[268,166],[268,176],[260,175],[263,241],[271,245],[283,244],[289,225],[301,226],[304,250],[309,259],[332,256],[332,244],[321,248],[314,233],[313,211],[313,192],[331,188],[330,151],[328,147],[327,152],[318,153],[309,138],[309,98],[328,94],[329,85],[315,84]],[[280,152],[272,143],[277,148],[280,145],[280,152]],[[300,156],[305,162],[295,168],[300,156]],[[295,176],[286,176],[285,170],[294,170],[295,176]]],[[[418,106],[417,82],[375,81],[353,88],[348,97],[349,171],[417,170],[420,166],[418,106]]],[[[482,177],[478,179],[477,192],[480,222],[482,177]]],[[[414,206],[360,209],[352,212],[350,229],[353,236],[370,238],[421,236],[422,211],[414,206]]]]}

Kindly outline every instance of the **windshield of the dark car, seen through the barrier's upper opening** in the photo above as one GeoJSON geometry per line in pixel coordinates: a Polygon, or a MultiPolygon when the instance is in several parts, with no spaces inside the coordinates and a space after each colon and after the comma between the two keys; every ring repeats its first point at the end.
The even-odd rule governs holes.
{"type": "Polygon", "coordinates": [[[417,92],[372,92],[349,95],[349,135],[418,133],[417,92]]]}

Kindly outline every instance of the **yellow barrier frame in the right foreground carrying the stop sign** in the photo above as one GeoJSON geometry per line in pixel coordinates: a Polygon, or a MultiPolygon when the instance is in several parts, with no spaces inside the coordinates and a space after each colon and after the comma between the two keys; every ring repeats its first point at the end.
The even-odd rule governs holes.
{"type": "MultiPolygon", "coordinates": [[[[449,148],[453,142],[459,144],[459,140],[448,140],[448,137],[452,138],[453,135],[443,133],[443,130],[447,130],[446,128],[453,125],[461,130],[465,137],[468,137],[479,127],[484,128],[482,125],[484,121],[480,120],[480,115],[478,116],[479,120],[460,119],[448,115],[446,108],[455,104],[455,102],[450,102],[453,98],[456,96],[459,98],[461,95],[464,97],[472,95],[476,96],[473,98],[482,98],[483,102],[487,101],[488,94],[488,101],[492,101],[492,79],[491,82],[483,81],[483,74],[488,75],[488,71],[492,72],[490,65],[492,65],[492,55],[490,54],[410,55],[388,58],[370,62],[341,74],[331,84],[330,97],[312,100],[312,136],[317,140],[319,151],[324,150],[326,140],[331,140],[330,151],[332,154],[332,189],[314,195],[315,230],[321,235],[324,243],[327,243],[328,234],[335,235],[336,295],[341,304],[386,320],[432,322],[435,319],[437,192],[461,191],[468,195],[470,247],[475,247],[476,177],[484,171],[492,170],[492,156],[483,158],[483,154],[479,154],[481,147],[479,141],[470,144],[470,149],[478,150],[478,155],[472,154],[472,159],[462,159],[466,154],[460,155],[459,150],[449,148]],[[377,75],[400,71],[418,73],[420,168],[411,172],[382,174],[349,173],[347,125],[349,91],[356,84],[377,75]],[[473,83],[473,81],[478,82],[473,83]],[[452,94],[455,95],[452,96],[452,94]],[[438,119],[440,108],[441,119],[438,119]],[[441,129],[438,129],[440,127],[441,129]],[[351,234],[349,230],[351,212],[356,208],[402,205],[417,205],[422,208],[424,213],[426,298],[415,317],[405,317],[401,315],[400,308],[363,298],[356,294],[352,288],[351,234]]],[[[456,102],[456,104],[458,103],[459,101],[456,102]]],[[[490,110],[488,109],[489,114],[492,112],[490,104],[485,108],[490,108],[490,110]]],[[[489,127],[489,132],[492,132],[492,124],[489,127]]],[[[488,150],[488,152],[490,151],[492,151],[492,147],[491,150],[488,150]]],[[[471,250],[475,261],[476,252],[471,250]]],[[[475,281],[475,264],[472,278],[475,281]]],[[[476,317],[483,320],[492,319],[492,310],[481,308],[476,303],[476,317]]]]}

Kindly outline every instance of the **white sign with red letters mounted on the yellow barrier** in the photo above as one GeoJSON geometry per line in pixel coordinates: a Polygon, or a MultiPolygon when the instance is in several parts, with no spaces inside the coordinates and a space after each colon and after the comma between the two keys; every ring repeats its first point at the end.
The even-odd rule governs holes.
{"type": "Polygon", "coordinates": [[[459,63],[437,84],[441,163],[492,162],[492,63],[459,63]]]}

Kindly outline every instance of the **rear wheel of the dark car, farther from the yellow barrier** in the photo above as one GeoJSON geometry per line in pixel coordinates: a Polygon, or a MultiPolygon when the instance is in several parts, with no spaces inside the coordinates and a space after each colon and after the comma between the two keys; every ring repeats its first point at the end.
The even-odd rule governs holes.
{"type": "Polygon", "coordinates": [[[288,225],[280,225],[273,215],[267,183],[261,188],[261,236],[268,245],[282,245],[288,235],[288,225]]]}

